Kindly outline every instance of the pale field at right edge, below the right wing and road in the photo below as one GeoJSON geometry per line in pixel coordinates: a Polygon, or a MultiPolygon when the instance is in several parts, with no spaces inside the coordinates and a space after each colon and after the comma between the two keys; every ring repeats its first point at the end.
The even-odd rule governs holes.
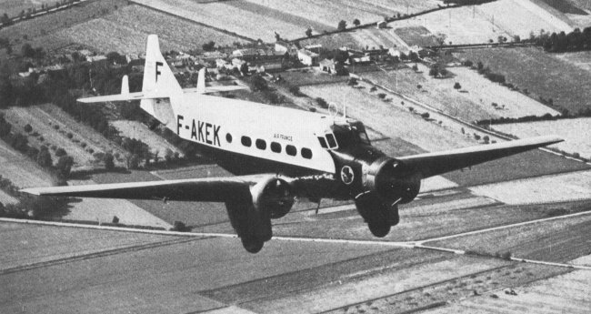
{"type": "Polygon", "coordinates": [[[524,178],[470,187],[474,193],[506,204],[566,202],[591,198],[591,171],[524,178]]]}

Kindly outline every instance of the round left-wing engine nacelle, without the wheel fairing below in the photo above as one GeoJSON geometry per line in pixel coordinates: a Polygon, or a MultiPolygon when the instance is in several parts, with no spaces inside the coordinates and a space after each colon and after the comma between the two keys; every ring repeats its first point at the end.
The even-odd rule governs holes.
{"type": "Polygon", "coordinates": [[[253,205],[268,212],[273,219],[282,218],[294,206],[292,188],[284,179],[268,177],[250,188],[253,205]]]}

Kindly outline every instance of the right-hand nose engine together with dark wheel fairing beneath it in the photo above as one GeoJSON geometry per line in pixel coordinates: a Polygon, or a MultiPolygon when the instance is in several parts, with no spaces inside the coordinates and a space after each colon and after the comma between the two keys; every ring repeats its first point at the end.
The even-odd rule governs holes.
{"type": "Polygon", "coordinates": [[[355,198],[357,211],[374,236],[386,237],[400,221],[398,204],[416,198],[421,177],[390,157],[380,157],[364,165],[362,171],[362,192],[355,198]]]}

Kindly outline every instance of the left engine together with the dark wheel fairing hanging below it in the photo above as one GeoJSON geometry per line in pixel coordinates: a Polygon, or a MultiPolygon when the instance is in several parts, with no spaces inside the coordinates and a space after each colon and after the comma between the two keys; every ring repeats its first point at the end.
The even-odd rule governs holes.
{"type": "Polygon", "coordinates": [[[285,180],[267,177],[250,189],[236,191],[232,200],[225,202],[225,208],[245,249],[256,253],[273,236],[271,218],[284,217],[294,202],[285,180]]]}

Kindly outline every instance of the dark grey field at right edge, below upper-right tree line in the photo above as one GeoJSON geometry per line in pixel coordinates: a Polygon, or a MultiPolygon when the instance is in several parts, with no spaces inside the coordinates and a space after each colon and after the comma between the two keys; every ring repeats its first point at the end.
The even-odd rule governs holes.
{"type": "Polygon", "coordinates": [[[588,108],[591,73],[540,49],[472,49],[457,56],[475,64],[482,61],[493,72],[505,75],[507,83],[527,89],[535,99],[539,96],[552,98],[555,106],[571,113],[588,108]]]}

